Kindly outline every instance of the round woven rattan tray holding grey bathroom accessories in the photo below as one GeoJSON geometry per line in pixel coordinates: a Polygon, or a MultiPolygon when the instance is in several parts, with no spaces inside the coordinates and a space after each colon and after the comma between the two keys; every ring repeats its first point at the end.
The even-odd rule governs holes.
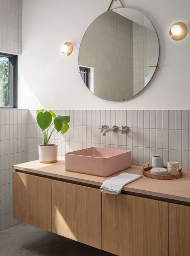
{"type": "MultiPolygon", "coordinates": [[[[164,168],[167,169],[167,166],[164,166],[164,168]]],[[[146,163],[143,165],[143,175],[151,178],[151,179],[157,179],[157,180],[173,180],[173,179],[178,179],[182,176],[182,166],[180,166],[177,169],[178,174],[166,174],[166,175],[157,175],[157,174],[151,174],[151,163],[146,163]]]]}

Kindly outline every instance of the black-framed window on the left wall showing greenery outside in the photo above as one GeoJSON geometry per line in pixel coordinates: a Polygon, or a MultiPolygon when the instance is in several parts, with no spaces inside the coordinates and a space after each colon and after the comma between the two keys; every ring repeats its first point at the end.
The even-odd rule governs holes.
{"type": "Polygon", "coordinates": [[[0,53],[0,108],[17,108],[18,56],[0,53]]]}

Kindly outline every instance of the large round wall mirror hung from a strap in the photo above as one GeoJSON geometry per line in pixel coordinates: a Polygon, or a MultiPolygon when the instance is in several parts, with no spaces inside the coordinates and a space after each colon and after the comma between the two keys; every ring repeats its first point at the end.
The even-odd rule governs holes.
{"type": "Polygon", "coordinates": [[[86,30],[79,68],[86,87],[109,101],[124,101],[143,90],[158,66],[159,41],[151,21],[128,8],[110,10],[86,30]]]}

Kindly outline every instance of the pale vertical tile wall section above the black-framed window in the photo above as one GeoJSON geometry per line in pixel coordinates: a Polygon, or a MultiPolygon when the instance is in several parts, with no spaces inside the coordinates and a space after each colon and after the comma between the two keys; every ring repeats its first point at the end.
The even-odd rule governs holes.
{"type": "Polygon", "coordinates": [[[22,0],[0,0],[0,52],[22,52],[22,0]]]}

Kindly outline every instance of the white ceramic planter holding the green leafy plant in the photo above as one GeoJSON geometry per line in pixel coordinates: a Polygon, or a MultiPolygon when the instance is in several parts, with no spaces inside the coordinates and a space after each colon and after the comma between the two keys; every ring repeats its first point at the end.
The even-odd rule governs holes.
{"type": "Polygon", "coordinates": [[[54,163],[58,159],[58,145],[38,146],[39,161],[41,163],[54,163]]]}

